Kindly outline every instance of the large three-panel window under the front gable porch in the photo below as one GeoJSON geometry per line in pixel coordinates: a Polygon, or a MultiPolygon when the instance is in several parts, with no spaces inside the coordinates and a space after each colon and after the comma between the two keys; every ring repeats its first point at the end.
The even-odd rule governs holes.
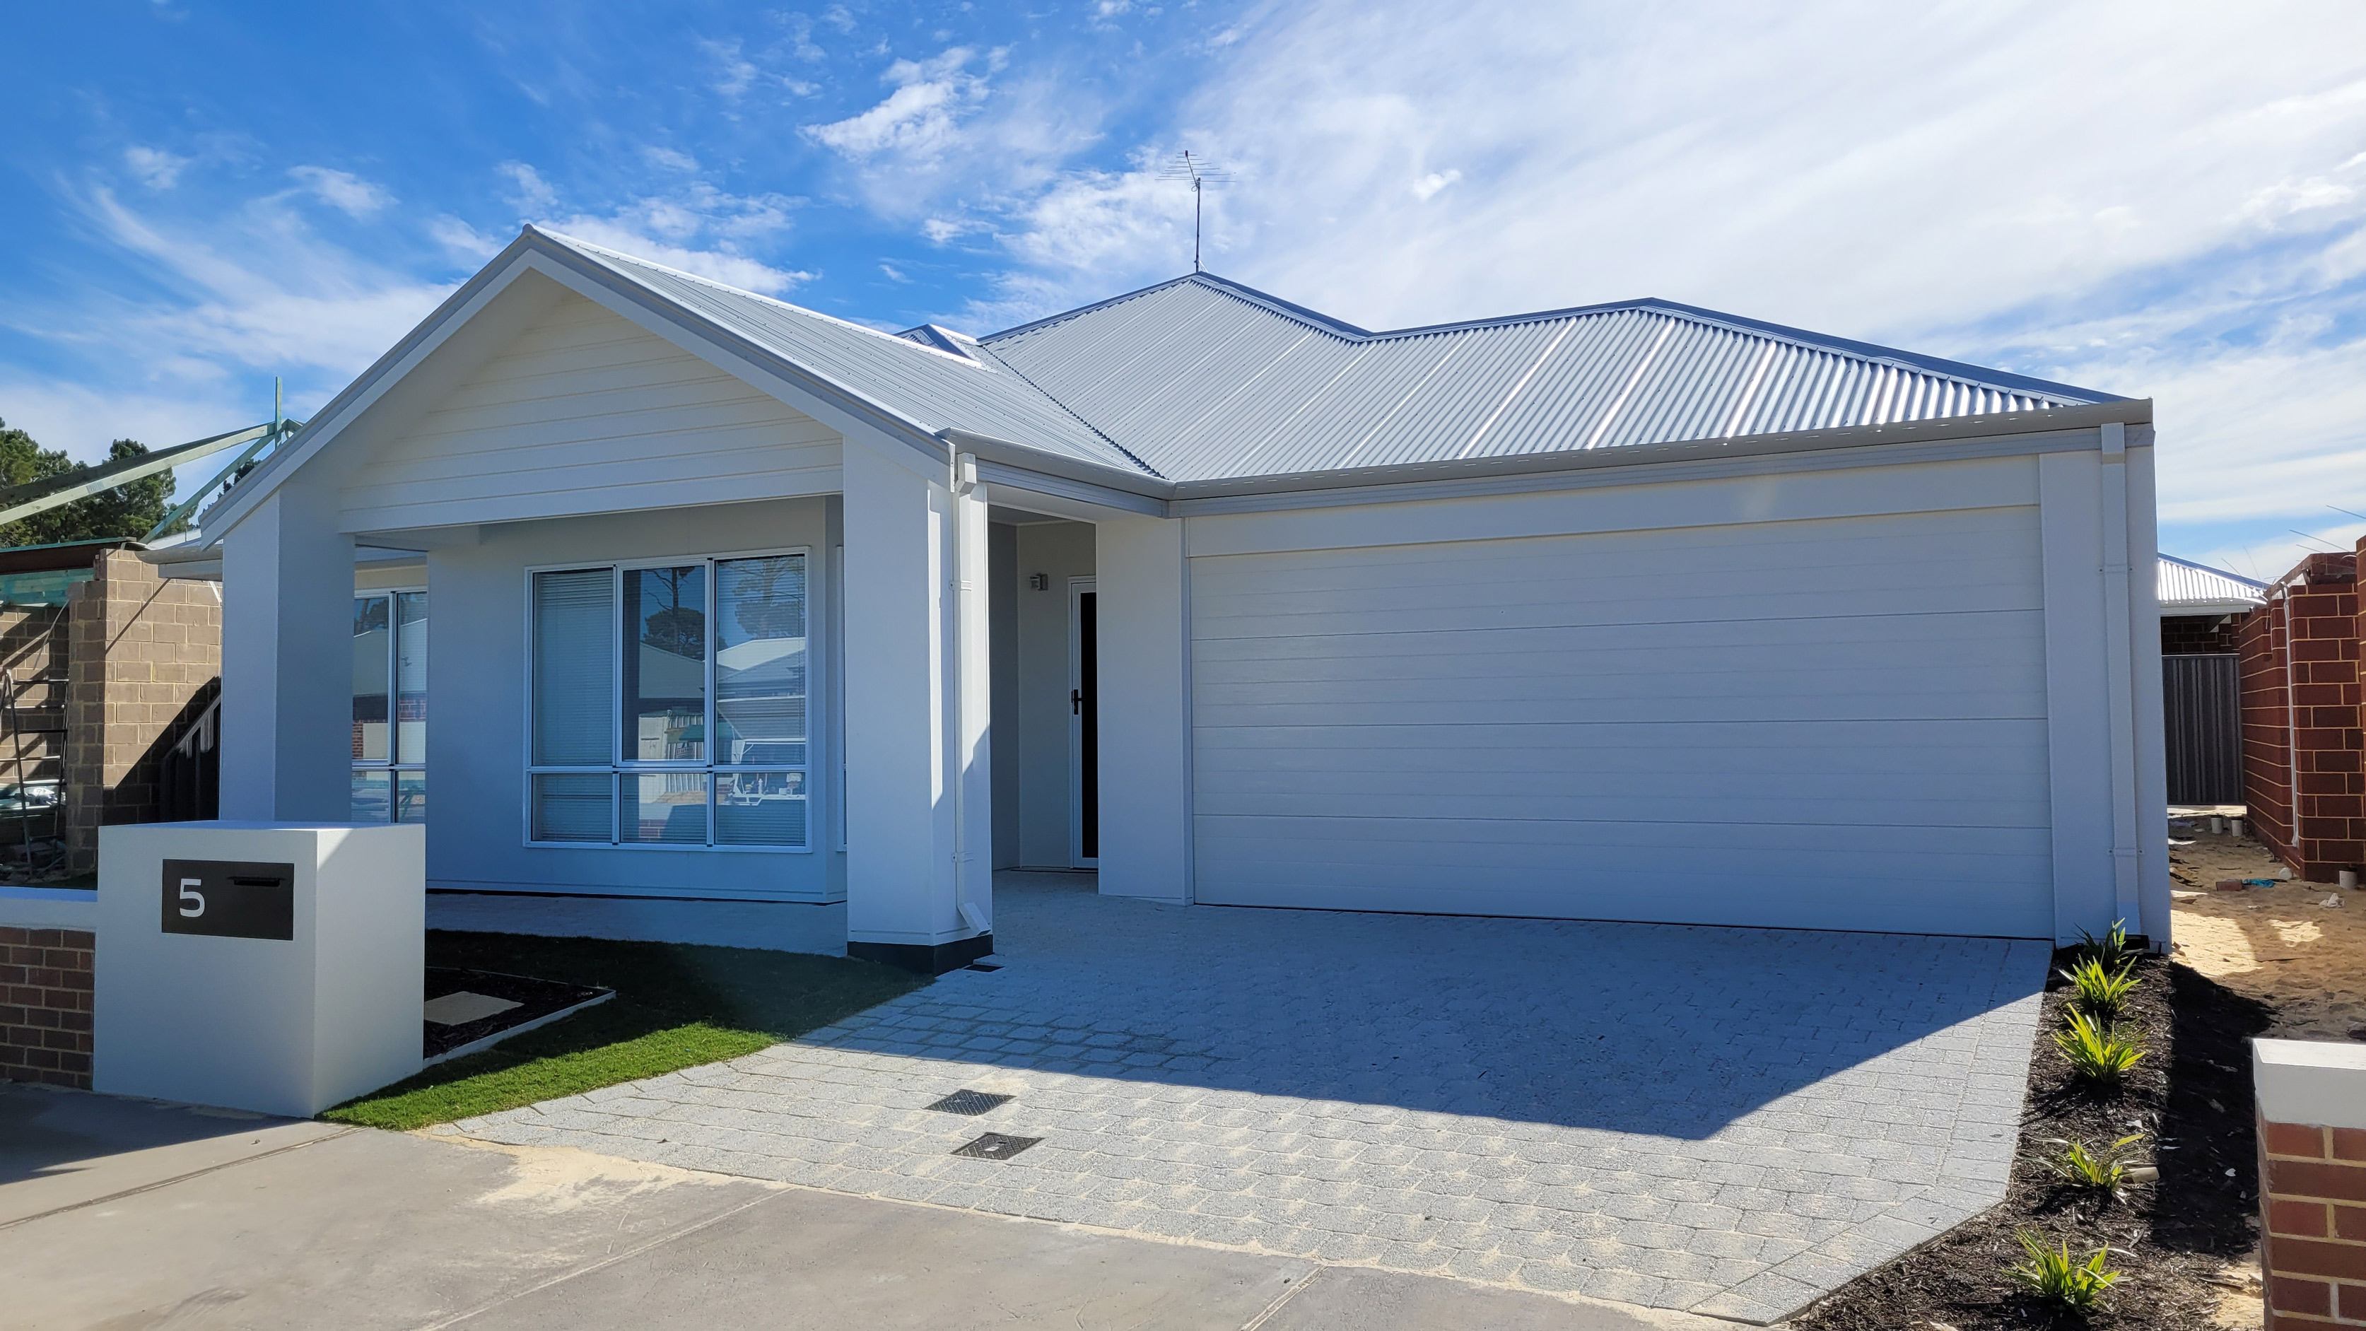
{"type": "Polygon", "coordinates": [[[530,574],[530,842],[809,846],[804,563],[530,574]]]}

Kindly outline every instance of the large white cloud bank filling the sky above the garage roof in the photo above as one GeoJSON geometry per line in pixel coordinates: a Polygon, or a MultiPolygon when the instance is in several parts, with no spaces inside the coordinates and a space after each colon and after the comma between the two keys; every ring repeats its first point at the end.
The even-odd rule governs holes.
{"type": "MultiPolygon", "coordinates": [[[[2366,475],[2357,5],[1308,0],[1247,26],[1145,135],[1240,170],[1207,199],[1228,277],[1365,326],[1666,296],[2151,395],[2172,522],[2283,522],[2366,475]]],[[[1060,165],[927,210],[1010,253],[980,324],[1188,262],[1188,194],[1060,165]]]]}

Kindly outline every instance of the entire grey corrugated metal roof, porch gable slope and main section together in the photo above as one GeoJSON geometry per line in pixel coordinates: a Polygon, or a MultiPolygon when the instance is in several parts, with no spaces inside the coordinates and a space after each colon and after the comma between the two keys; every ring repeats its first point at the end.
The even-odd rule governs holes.
{"type": "Polygon", "coordinates": [[[2113,400],[1663,300],[1368,333],[1207,274],[980,340],[892,336],[551,239],[927,433],[1174,482],[2113,400]]]}

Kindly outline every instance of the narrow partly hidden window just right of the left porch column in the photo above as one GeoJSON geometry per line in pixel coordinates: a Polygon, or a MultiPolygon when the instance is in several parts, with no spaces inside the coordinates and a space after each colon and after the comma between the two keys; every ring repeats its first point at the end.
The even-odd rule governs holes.
{"type": "Polygon", "coordinates": [[[353,820],[428,816],[428,593],[353,598],[353,820]]]}

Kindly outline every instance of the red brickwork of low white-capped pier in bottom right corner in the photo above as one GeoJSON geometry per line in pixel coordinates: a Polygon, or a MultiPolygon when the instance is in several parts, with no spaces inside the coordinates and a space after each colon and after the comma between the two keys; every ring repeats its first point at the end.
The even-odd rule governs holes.
{"type": "Polygon", "coordinates": [[[2267,1331],[2366,1326],[2366,1132],[2260,1121],[2267,1331]]]}

